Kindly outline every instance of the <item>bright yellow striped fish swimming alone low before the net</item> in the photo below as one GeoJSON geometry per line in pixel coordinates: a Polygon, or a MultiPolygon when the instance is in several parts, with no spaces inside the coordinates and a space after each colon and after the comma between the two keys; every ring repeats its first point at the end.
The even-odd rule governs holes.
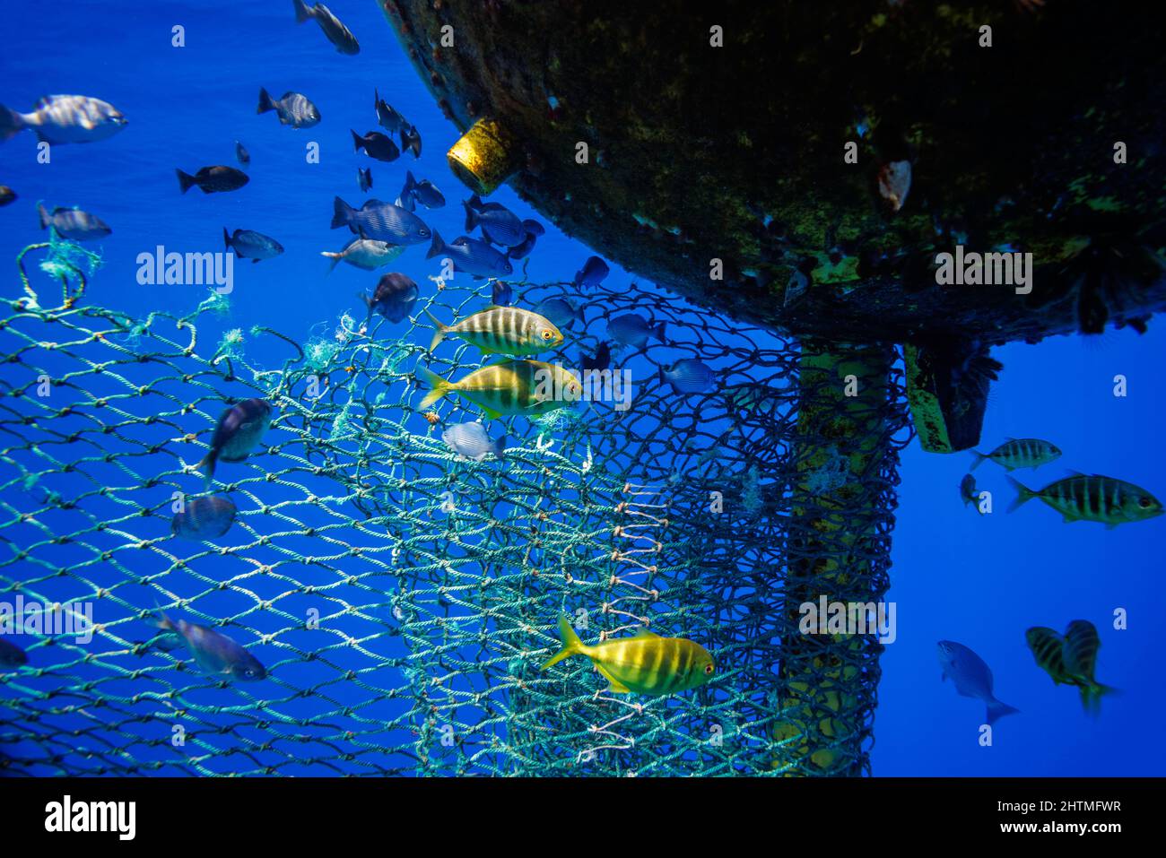
{"type": "Polygon", "coordinates": [[[542,669],[571,655],[585,655],[610,683],[613,694],[666,695],[697,688],[712,678],[716,664],[700,644],[683,638],[661,638],[646,628],[634,638],[586,646],[567,617],[559,618],[563,648],[542,669]]]}

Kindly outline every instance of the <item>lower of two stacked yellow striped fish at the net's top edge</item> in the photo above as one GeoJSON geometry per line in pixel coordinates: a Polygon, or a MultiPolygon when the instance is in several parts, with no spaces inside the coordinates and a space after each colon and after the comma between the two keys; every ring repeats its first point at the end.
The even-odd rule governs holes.
{"type": "Polygon", "coordinates": [[[535,417],[578,401],[583,385],[570,371],[541,360],[504,360],[448,381],[423,366],[417,375],[433,389],[421,400],[427,408],[450,393],[459,393],[490,419],[521,414],[535,417]]]}

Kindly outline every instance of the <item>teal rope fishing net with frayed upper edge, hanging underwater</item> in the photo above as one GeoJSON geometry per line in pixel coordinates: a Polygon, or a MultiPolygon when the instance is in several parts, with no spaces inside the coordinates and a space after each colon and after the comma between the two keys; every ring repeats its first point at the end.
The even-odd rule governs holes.
{"type": "Polygon", "coordinates": [[[480,283],[426,283],[412,319],[366,326],[353,309],[301,345],[236,328],[215,294],[182,317],[90,305],[79,254],[27,248],[0,321],[0,603],[91,603],[96,628],[8,638],[28,663],[0,666],[0,772],[869,771],[880,645],[802,634],[799,605],[888,585],[909,439],[890,347],[798,344],[646,286],[515,280],[515,305],[582,311],[545,360],[578,372],[630,312],[665,342],[612,360],[634,380],[628,408],[493,421],[506,450],[478,462],[442,429],[479,410],[450,398],[427,416],[414,370],[482,365],[454,339],[430,358],[421,312],[464,317],[487,303],[480,283]],[[29,253],[47,254],[38,291],[29,253]],[[660,368],[682,358],[716,384],[677,391],[660,368]],[[173,535],[174,505],[205,491],[194,465],[219,414],[250,396],[275,419],[216,473],[234,525],[173,535]],[[268,676],[223,681],[160,647],[157,607],[268,676]],[[716,676],[647,697],[607,691],[584,657],[540,671],[561,613],[588,644],[645,625],[695,640],[716,676]]]}

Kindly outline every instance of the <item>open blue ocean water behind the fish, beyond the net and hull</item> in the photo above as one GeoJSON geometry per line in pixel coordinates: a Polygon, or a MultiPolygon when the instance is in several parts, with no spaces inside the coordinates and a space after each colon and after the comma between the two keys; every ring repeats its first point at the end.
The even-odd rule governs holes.
{"type": "MultiPolygon", "coordinates": [[[[290,0],[267,3],[148,6],[70,0],[45,14],[43,3],[6,5],[9,33],[0,54],[0,103],[28,111],[43,94],[80,93],[107,100],[129,119],[112,140],[55,147],[50,164],[36,161],[35,138],[0,145],[0,184],[20,195],[0,209],[0,262],[43,240],[34,205],[78,205],[113,227],[101,241],[104,266],[87,300],[145,316],[182,314],[204,295],[201,287],[140,286],[136,258],[159,245],[168,251],[222,248],[222,230],[252,228],[278,238],[287,253],[236,269],[232,305],[237,324],[262,324],[300,337],[331,330],[342,312],[359,314],[358,291],[377,274],[339,266],[328,274],[319,256],[346,234],[329,230],[335,195],[358,205],[357,168],[372,167],[372,196],[392,201],[406,169],[433,180],[449,199],[424,214],[447,238],[462,233],[457,201],[464,189],[449,173],[445,150],[457,139],[409,65],[371,0],[337,0],[333,10],[358,36],[361,52],[337,54],[312,23],[297,27],[290,0]],[[181,26],[185,47],[171,45],[181,26]],[[255,114],[259,87],[279,97],[308,94],[323,121],[304,131],[282,127],[274,114],[255,114]],[[406,155],[381,164],[352,152],[349,129],[375,128],[372,91],[422,133],[419,161],[406,155]],[[234,141],[248,149],[251,183],[233,194],[180,195],[175,168],[234,164],[234,141]],[[319,162],[308,163],[309,143],[319,162]],[[321,328],[321,323],[324,326],[321,328]]],[[[590,255],[508,189],[493,199],[547,226],[531,258],[532,281],[569,280],[590,255]]],[[[427,284],[437,261],[424,245],[392,266],[427,284]]],[[[0,269],[2,270],[2,269],[0,269]]],[[[12,272],[14,273],[14,272],[12,272]]],[[[609,282],[634,276],[612,266],[609,282]]],[[[5,279],[14,295],[14,277],[5,279]]],[[[1158,424],[1166,396],[1160,366],[1161,331],[1110,332],[1096,342],[1052,338],[1038,345],[997,349],[1004,363],[993,385],[981,449],[1006,436],[1042,437],[1063,457],[1037,474],[1016,476],[1032,487],[1067,469],[1135,481],[1163,497],[1166,464],[1158,424]],[[1124,375],[1129,395],[1114,395],[1124,375]]],[[[260,358],[265,356],[259,356],[260,358]]],[[[285,357],[272,352],[275,363],[285,357]]],[[[1166,691],[1158,678],[1161,603],[1158,555],[1166,519],[1107,530],[1066,525],[1039,502],[1007,514],[1012,498],[1002,469],[977,471],[993,494],[993,512],[963,506],[957,485],[971,457],[904,453],[888,598],[897,603],[898,638],[881,660],[873,771],[880,775],[1101,775],[1161,774],[1166,751],[1146,734],[1166,691]],[[1115,611],[1129,614],[1114,628],[1115,611]],[[1033,663],[1024,632],[1033,625],[1063,628],[1088,619],[1101,632],[1098,678],[1122,689],[1107,698],[1101,718],[1084,716],[1076,692],[1054,687],[1033,663]],[[982,704],[958,697],[940,681],[935,644],[949,639],[976,650],[992,668],[997,696],[1021,710],[1000,720],[992,744],[977,732],[982,704]]],[[[337,691],[336,694],[343,694],[337,691]]],[[[353,702],[359,691],[353,692],[353,702]]]]}

